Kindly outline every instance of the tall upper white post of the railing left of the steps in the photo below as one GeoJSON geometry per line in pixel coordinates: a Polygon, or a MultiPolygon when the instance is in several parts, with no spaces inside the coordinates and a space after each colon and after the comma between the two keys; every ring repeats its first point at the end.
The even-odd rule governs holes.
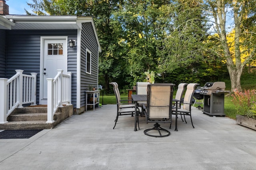
{"type": "Polygon", "coordinates": [[[22,106],[22,101],[23,101],[23,75],[22,75],[22,73],[23,73],[23,70],[20,70],[20,69],[17,69],[17,70],[15,70],[16,71],[16,73],[19,75],[18,77],[17,77],[17,100],[18,100],[18,103],[19,103],[19,105],[18,105],[18,108],[22,108],[23,106],[22,106]]]}

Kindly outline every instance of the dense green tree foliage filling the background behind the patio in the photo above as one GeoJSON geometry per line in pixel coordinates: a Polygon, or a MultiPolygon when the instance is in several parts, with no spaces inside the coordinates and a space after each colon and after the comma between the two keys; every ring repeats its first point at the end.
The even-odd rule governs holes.
{"type": "MultiPolygon", "coordinates": [[[[206,11],[210,11],[210,5],[216,9],[216,1],[32,0],[29,5],[36,15],[94,18],[102,48],[98,61],[99,83],[105,89],[109,89],[111,81],[116,81],[121,90],[130,89],[137,81],[144,80],[147,70],[156,73],[156,83],[204,85],[221,79],[231,89],[220,36],[206,34],[208,14],[211,17],[217,14],[206,11]]],[[[226,2],[232,1],[224,4],[226,8],[232,7],[226,2]]],[[[256,3],[248,5],[248,2],[245,6],[248,15],[241,20],[246,28],[241,34],[242,46],[255,47],[256,3]]],[[[254,53],[253,50],[243,52],[254,53]]],[[[255,61],[255,57],[252,55],[250,61],[255,61]]],[[[241,77],[242,81],[247,82],[246,89],[251,87],[248,79],[241,77]]]]}

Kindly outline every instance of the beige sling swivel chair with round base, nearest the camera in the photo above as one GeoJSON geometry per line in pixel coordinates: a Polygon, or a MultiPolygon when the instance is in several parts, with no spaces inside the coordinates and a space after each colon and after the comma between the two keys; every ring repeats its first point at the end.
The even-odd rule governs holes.
{"type": "Polygon", "coordinates": [[[148,84],[146,120],[155,123],[153,128],[144,130],[144,134],[153,137],[166,137],[170,132],[159,123],[172,123],[172,97],[174,84],[148,84]]]}

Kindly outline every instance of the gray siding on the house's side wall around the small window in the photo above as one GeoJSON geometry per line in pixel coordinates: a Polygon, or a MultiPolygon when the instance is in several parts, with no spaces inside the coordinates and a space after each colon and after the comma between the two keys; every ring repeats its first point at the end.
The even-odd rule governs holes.
{"type": "Polygon", "coordinates": [[[89,85],[98,86],[98,43],[92,23],[82,23],[81,38],[81,107],[85,105],[85,92],[89,85]],[[86,73],[86,49],[91,51],[91,74],[86,73]]]}

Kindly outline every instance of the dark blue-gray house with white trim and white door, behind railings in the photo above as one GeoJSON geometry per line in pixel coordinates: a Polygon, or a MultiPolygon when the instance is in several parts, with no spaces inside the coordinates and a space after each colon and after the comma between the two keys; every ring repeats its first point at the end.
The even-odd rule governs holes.
{"type": "MultiPolygon", "coordinates": [[[[73,114],[84,112],[85,91],[98,86],[100,43],[92,17],[0,15],[0,78],[36,73],[36,105],[47,104],[47,81],[72,74],[73,114]]],[[[2,88],[2,87],[1,87],[2,88]]]]}

